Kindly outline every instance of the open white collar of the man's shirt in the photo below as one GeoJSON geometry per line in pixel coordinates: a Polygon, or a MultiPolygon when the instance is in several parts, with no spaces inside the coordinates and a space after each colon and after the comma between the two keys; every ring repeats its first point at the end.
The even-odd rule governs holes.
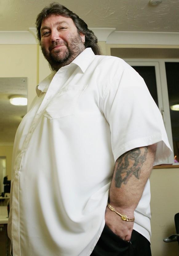
{"type": "MultiPolygon", "coordinates": [[[[94,57],[94,53],[91,48],[86,48],[84,51],[82,51],[81,54],[79,54],[69,65],[64,66],[62,68],[67,68],[70,65],[73,65],[72,63],[79,66],[79,68],[82,70],[83,73],[85,73],[87,67],[92,61],[92,58],[94,57]]],[[[46,77],[42,82],[40,82],[36,86],[36,93],[38,97],[42,92],[47,92],[50,82],[52,81],[54,75],[57,73],[57,71],[53,71],[48,77],[46,77]]]]}

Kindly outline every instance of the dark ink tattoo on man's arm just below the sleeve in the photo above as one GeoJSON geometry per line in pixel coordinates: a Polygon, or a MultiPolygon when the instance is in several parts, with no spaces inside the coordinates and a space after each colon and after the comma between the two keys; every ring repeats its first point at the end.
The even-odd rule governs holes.
{"type": "Polygon", "coordinates": [[[127,184],[132,175],[139,179],[141,167],[146,161],[147,146],[144,147],[144,153],[141,153],[140,148],[130,150],[117,159],[115,186],[120,188],[122,183],[127,184]]]}

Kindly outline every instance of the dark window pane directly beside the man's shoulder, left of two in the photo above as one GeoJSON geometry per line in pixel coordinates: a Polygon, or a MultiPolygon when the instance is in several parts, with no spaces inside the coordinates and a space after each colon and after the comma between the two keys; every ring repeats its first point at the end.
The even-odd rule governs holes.
{"type": "Polygon", "coordinates": [[[158,106],[155,66],[132,66],[144,79],[150,94],[158,106]]]}

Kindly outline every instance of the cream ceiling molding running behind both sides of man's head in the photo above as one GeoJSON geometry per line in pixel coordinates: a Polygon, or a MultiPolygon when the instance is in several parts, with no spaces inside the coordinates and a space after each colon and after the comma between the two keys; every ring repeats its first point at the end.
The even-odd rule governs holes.
{"type": "MultiPolygon", "coordinates": [[[[98,41],[123,45],[179,45],[179,33],[115,31],[115,28],[90,28],[98,41]]],[[[0,44],[38,44],[36,29],[0,31],[0,44]]]]}

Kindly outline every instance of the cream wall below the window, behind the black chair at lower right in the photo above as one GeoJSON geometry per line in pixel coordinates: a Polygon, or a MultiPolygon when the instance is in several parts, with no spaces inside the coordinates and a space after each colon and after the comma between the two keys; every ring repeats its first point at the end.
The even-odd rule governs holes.
{"type": "Polygon", "coordinates": [[[151,186],[151,250],[152,256],[177,256],[177,242],[163,238],[176,234],[174,215],[179,212],[179,168],[153,169],[151,186]]]}

